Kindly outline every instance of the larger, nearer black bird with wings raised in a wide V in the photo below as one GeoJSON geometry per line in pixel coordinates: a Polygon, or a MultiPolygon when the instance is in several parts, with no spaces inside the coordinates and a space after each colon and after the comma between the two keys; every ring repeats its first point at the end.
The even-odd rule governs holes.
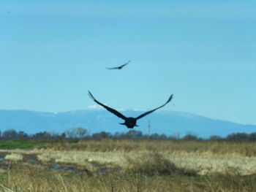
{"type": "Polygon", "coordinates": [[[91,97],[91,99],[93,99],[95,102],[97,102],[97,104],[101,105],[102,107],[104,107],[106,110],[108,110],[109,112],[112,112],[113,114],[115,114],[116,116],[118,116],[118,118],[122,118],[124,120],[124,123],[120,123],[121,125],[127,126],[127,128],[133,128],[134,126],[138,126],[136,125],[136,121],[140,118],[143,118],[144,116],[148,115],[151,112],[154,112],[155,110],[158,110],[161,107],[164,107],[165,104],[167,104],[168,102],[170,102],[171,99],[173,99],[173,94],[170,96],[170,98],[165,102],[165,104],[161,105],[160,107],[157,107],[154,110],[148,111],[148,112],[144,112],[143,114],[139,115],[137,118],[127,118],[124,115],[122,115],[120,112],[106,106],[105,104],[100,103],[99,101],[97,101],[94,96],[91,94],[90,91],[88,91],[89,96],[91,97]]]}

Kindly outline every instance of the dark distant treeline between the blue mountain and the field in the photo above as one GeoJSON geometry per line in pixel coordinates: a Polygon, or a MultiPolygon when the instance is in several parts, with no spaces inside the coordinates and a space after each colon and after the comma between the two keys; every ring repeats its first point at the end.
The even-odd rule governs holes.
{"type": "Polygon", "coordinates": [[[7,131],[0,131],[1,139],[152,139],[152,140],[187,140],[187,141],[256,141],[256,132],[252,134],[236,133],[229,134],[227,137],[219,137],[212,135],[207,139],[197,137],[195,134],[187,134],[180,137],[179,133],[167,136],[166,134],[143,134],[141,131],[129,130],[127,133],[111,134],[110,132],[99,132],[96,134],[89,134],[86,128],[69,128],[62,134],[52,132],[39,132],[36,134],[26,134],[24,131],[15,131],[10,129],[7,131]]]}

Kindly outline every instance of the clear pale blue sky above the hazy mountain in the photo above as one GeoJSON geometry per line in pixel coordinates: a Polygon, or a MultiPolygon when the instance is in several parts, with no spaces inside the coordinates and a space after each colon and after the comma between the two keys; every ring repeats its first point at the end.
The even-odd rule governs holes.
{"type": "Polygon", "coordinates": [[[256,124],[255,34],[255,1],[0,1],[0,109],[84,110],[90,90],[148,110],[173,93],[163,110],[256,124]]]}

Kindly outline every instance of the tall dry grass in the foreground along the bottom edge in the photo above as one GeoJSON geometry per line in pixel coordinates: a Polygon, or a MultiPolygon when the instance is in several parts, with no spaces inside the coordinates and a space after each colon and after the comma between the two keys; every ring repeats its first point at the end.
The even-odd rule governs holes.
{"type": "MultiPolygon", "coordinates": [[[[165,164],[162,157],[144,165],[165,164]]],[[[156,169],[159,170],[158,167],[156,169]]],[[[151,169],[152,171],[153,169],[151,169]]],[[[13,166],[7,174],[0,174],[0,191],[256,191],[256,176],[215,175],[201,177],[187,175],[172,164],[165,171],[148,172],[140,166],[132,171],[116,174],[73,174],[56,172],[43,166],[13,166]],[[138,170],[136,170],[138,169],[138,170]],[[166,170],[168,170],[166,172],[166,170]],[[152,174],[153,173],[153,174],[152,174]]]]}

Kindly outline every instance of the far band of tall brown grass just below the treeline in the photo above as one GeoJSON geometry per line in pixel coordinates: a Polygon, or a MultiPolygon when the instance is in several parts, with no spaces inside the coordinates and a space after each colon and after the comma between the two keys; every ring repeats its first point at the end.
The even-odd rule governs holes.
{"type": "Polygon", "coordinates": [[[138,153],[208,153],[217,155],[256,156],[256,142],[162,141],[102,139],[78,142],[51,142],[52,150],[84,150],[93,152],[138,153]]]}

